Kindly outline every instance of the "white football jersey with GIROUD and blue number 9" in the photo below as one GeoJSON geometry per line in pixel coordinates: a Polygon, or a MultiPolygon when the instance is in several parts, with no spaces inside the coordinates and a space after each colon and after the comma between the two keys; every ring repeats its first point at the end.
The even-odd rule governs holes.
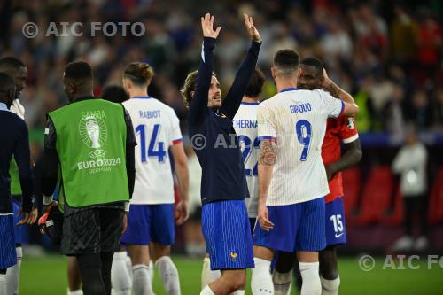
{"type": "Polygon", "coordinates": [[[323,137],[326,120],[337,118],[343,107],[341,100],[320,89],[284,89],[260,104],[259,138],[276,140],[267,205],[291,205],[329,193],[323,137]]]}

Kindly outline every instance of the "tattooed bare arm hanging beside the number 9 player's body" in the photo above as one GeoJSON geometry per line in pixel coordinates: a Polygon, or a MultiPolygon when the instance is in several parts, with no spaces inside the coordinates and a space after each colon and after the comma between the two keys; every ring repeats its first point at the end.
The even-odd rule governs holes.
{"type": "Polygon", "coordinates": [[[259,156],[259,211],[257,219],[260,227],[265,230],[273,229],[274,223],[269,221],[266,199],[268,198],[269,184],[276,164],[276,142],[265,140],[260,143],[259,156]]]}

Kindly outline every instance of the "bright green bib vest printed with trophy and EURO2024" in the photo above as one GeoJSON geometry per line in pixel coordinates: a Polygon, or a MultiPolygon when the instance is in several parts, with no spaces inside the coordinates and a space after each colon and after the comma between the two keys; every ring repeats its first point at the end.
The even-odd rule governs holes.
{"type": "Polygon", "coordinates": [[[72,207],[128,201],[123,106],[88,99],[48,115],[57,134],[59,196],[72,207]]]}

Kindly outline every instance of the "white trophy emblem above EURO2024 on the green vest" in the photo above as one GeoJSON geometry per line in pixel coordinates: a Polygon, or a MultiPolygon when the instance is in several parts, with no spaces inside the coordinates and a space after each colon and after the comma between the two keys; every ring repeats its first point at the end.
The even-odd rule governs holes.
{"type": "Polygon", "coordinates": [[[84,144],[89,148],[94,149],[89,152],[89,157],[92,159],[104,158],[106,151],[100,148],[106,143],[107,128],[105,120],[105,112],[82,112],[82,119],[79,122],[80,137],[84,144]]]}

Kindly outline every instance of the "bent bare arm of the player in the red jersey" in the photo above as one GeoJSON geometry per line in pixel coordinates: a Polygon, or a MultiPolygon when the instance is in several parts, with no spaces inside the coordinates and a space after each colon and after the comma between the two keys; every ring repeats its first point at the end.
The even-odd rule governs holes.
{"type": "Polygon", "coordinates": [[[325,166],[328,181],[338,172],[353,167],[360,162],[362,157],[360,140],[357,138],[353,142],[344,144],[344,152],[340,159],[325,166]]]}

